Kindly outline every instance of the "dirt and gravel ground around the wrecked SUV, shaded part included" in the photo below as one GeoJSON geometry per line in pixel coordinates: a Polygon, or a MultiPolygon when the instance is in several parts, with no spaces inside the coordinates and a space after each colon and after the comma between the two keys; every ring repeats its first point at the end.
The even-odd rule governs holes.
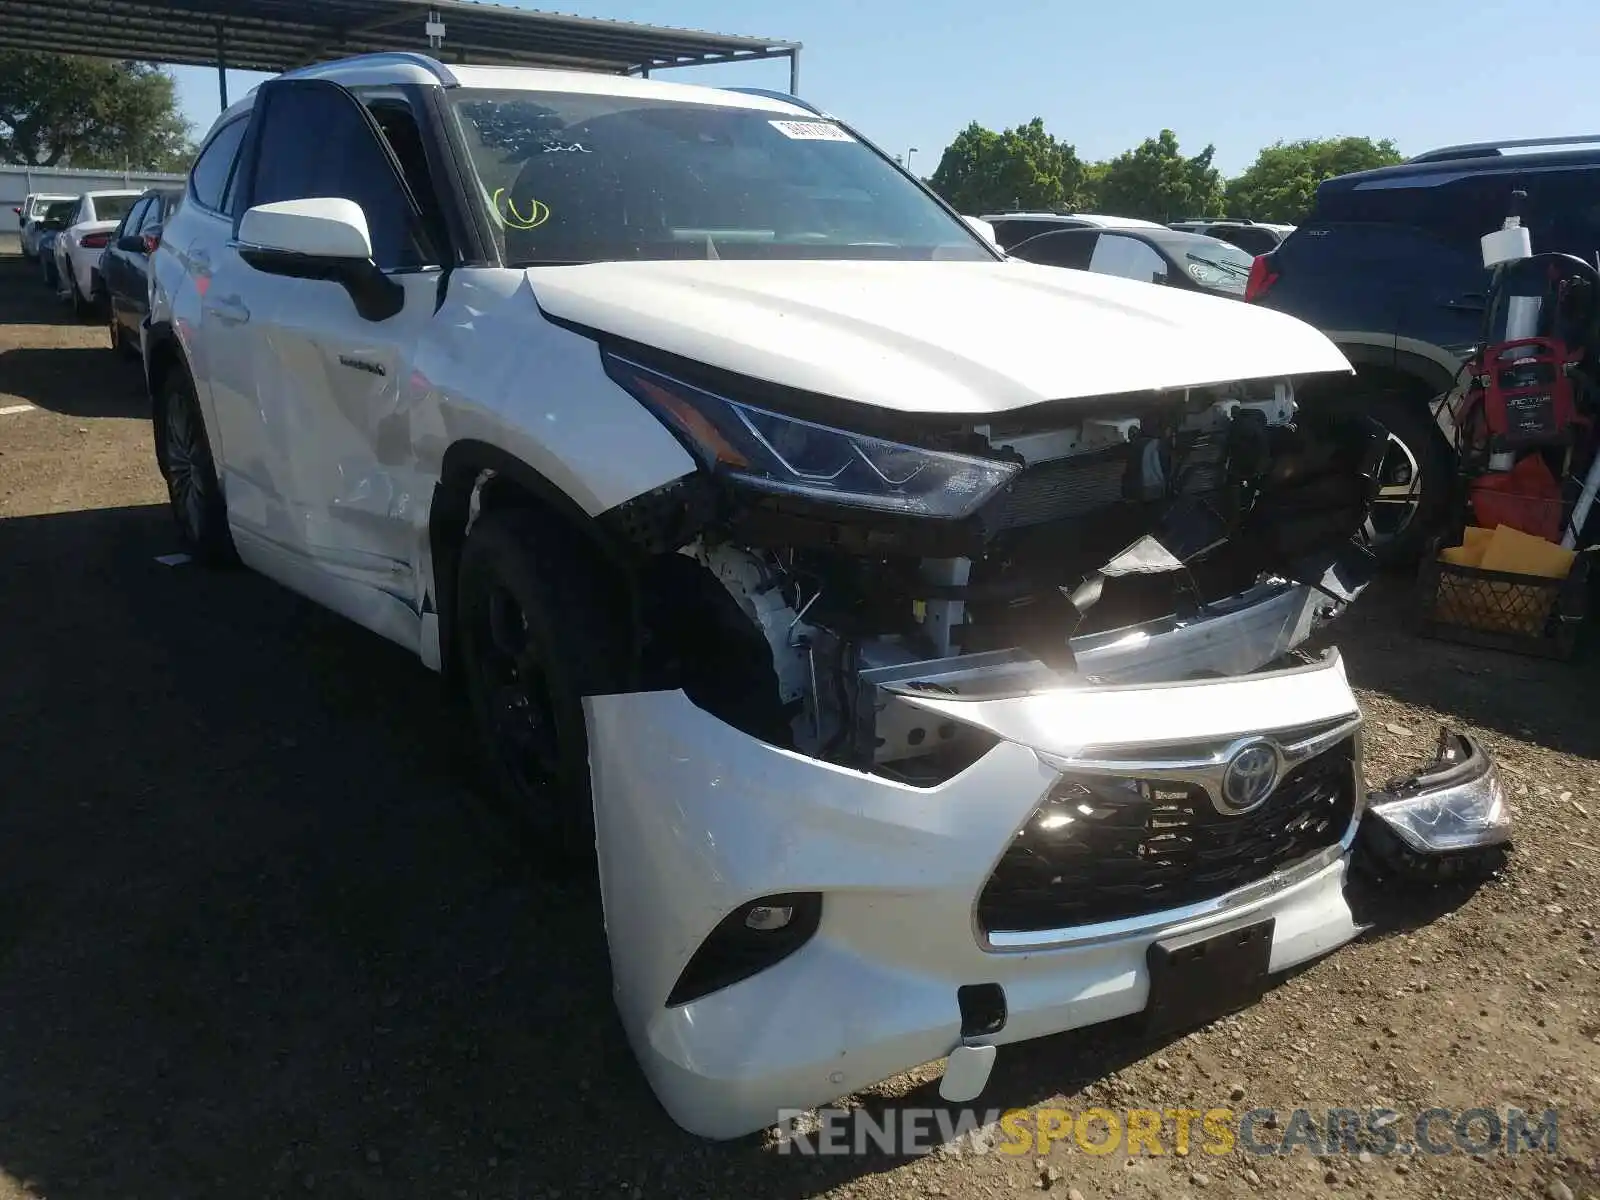
{"type": "MultiPolygon", "coordinates": [[[[1557,1154],[802,1158],[682,1133],[634,1066],[595,898],[477,832],[434,678],[174,549],[136,370],[0,259],[0,1200],[19,1197],[1600,1198],[1595,656],[1336,630],[1374,779],[1438,722],[1517,850],[1176,1042],[1003,1050],[979,1109],[1560,1114],[1557,1154]]],[[[856,1098],[934,1106],[931,1074],[856,1098]]],[[[1171,1142],[1168,1142],[1170,1146],[1171,1142]]]]}

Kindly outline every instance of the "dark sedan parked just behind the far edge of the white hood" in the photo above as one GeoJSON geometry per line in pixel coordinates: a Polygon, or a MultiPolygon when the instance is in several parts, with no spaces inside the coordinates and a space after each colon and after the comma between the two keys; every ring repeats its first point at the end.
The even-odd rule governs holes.
{"type": "Polygon", "coordinates": [[[1243,299],[1251,256],[1238,246],[1176,229],[1059,229],[1037,234],[1008,251],[1024,262],[1166,283],[1211,296],[1243,299]]]}

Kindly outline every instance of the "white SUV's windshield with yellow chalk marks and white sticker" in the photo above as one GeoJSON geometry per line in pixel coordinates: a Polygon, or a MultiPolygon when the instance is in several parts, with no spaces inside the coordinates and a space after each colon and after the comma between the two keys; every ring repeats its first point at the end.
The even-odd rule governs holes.
{"type": "Polygon", "coordinates": [[[994,259],[834,122],[650,96],[451,99],[510,266],[994,259]]]}

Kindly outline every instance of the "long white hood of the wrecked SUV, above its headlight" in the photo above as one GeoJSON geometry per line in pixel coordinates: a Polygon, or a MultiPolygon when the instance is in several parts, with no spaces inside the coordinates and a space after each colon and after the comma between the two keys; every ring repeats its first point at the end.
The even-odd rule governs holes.
{"type": "Polygon", "coordinates": [[[1032,262],[595,262],[528,282],[550,317],[906,413],[1350,370],[1294,317],[1032,262]]]}

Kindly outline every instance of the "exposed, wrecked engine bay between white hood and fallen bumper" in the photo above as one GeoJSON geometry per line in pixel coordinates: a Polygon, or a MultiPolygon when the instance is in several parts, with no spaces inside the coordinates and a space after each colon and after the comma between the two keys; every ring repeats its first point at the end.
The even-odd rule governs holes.
{"type": "MultiPolygon", "coordinates": [[[[718,486],[651,565],[648,675],[773,744],[938,782],[994,738],[907,694],[1093,683],[1074,648],[1115,643],[1114,630],[1291,586],[1317,590],[1326,619],[1358,594],[1382,435],[1296,418],[1278,379],[925,434],[1014,464],[958,522],[718,486]]],[[[1178,677],[1195,674],[1224,672],[1178,677]]]]}

